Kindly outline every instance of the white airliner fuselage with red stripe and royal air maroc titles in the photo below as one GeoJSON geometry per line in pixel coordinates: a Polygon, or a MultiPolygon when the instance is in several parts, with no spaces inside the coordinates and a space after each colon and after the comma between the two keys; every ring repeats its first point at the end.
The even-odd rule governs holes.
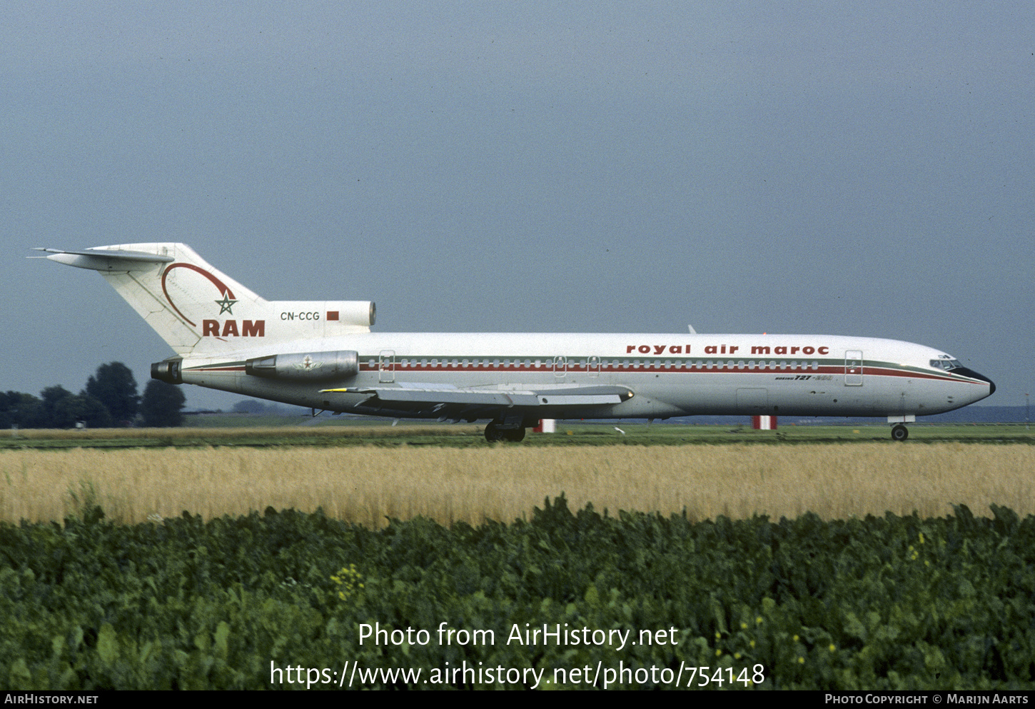
{"type": "MultiPolygon", "coordinates": [[[[609,407],[560,406],[552,418],[667,418],[696,414],[922,416],[987,396],[990,382],[931,365],[944,353],[871,337],[782,334],[358,333],[279,347],[280,353],[353,350],[343,381],[249,376],[243,362],[272,354],[184,358],[185,383],[343,412],[436,417],[326,390],[421,385],[521,389],[620,385],[634,396],[609,407]],[[365,404],[365,405],[364,405],[365,404]]],[[[481,416],[478,416],[479,418],[481,416]]]]}

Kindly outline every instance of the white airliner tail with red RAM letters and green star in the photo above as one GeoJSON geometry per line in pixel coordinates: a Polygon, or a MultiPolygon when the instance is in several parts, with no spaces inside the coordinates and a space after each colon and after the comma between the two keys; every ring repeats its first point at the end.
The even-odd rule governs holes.
{"type": "Polygon", "coordinates": [[[182,243],[37,250],[51,261],[99,271],[181,356],[367,332],[374,324],[369,301],[265,300],[182,243]]]}

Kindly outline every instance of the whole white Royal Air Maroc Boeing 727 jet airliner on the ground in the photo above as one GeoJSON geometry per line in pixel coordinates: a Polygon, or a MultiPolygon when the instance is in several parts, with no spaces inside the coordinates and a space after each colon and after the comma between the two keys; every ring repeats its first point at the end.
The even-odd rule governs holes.
{"type": "Polygon", "coordinates": [[[542,418],[696,414],[875,416],[905,440],[917,416],[967,406],[992,380],[894,339],[792,334],[371,332],[369,301],[268,301],[182,243],[51,261],[100,273],[169,344],[173,384],[334,412],[485,420],[521,441],[542,418]]]}

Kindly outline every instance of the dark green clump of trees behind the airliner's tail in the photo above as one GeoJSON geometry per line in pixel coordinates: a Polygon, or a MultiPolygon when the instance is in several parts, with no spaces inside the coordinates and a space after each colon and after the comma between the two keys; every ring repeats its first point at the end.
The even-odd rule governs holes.
{"type": "Polygon", "coordinates": [[[60,384],[49,386],[39,396],[7,391],[0,393],[0,429],[71,429],[81,423],[90,429],[119,426],[177,426],[183,423],[186,397],[180,387],[152,379],[137,393],[132,372],[122,362],[97,367],[78,394],[60,384]]]}

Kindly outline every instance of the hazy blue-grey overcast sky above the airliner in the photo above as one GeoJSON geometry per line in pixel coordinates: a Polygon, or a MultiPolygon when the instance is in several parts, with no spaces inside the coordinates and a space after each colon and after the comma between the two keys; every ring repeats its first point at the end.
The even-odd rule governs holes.
{"type": "Polygon", "coordinates": [[[79,391],[117,360],[143,390],[171,354],[30,247],[183,241],[269,299],[375,300],[383,331],[892,337],[1023,405],[1033,16],[3,3],[0,389],[79,391]]]}

